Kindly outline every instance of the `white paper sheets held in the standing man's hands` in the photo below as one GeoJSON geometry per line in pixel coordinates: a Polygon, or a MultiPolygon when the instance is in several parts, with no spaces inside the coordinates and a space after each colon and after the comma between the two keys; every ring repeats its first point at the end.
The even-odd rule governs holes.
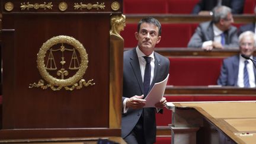
{"type": "Polygon", "coordinates": [[[149,91],[149,94],[145,98],[146,105],[144,107],[155,107],[155,104],[162,99],[162,97],[164,96],[168,78],[169,74],[164,79],[164,81],[157,82],[153,85],[151,91],[149,91]]]}

